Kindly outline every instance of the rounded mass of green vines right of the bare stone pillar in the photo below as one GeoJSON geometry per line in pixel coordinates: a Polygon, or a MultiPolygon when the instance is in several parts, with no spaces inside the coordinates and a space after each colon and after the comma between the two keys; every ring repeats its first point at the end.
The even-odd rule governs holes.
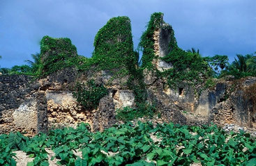
{"type": "Polygon", "coordinates": [[[167,78],[170,87],[177,86],[184,81],[192,85],[202,83],[211,73],[208,63],[198,53],[176,48],[163,60],[173,65],[172,69],[162,73],[162,76],[167,78]]]}

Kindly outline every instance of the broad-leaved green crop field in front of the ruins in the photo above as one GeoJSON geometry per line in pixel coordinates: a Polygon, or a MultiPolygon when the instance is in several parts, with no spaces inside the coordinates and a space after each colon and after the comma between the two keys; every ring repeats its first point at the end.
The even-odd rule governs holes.
{"type": "Polygon", "coordinates": [[[46,148],[59,165],[256,165],[256,142],[248,133],[226,134],[217,126],[131,123],[91,133],[89,125],[62,128],[27,138],[0,135],[0,165],[16,165],[22,150],[33,162],[49,165],[46,148]],[[74,151],[82,151],[82,158],[74,151]]]}

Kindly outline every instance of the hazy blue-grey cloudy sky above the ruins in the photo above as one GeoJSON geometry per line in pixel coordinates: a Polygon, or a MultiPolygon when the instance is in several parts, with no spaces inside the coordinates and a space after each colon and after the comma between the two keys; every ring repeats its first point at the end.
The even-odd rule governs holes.
{"type": "Polygon", "coordinates": [[[182,49],[234,60],[256,51],[255,6],[255,0],[0,0],[0,65],[31,60],[44,35],[70,38],[91,57],[97,31],[116,16],[130,17],[136,48],[154,12],[165,14],[182,49]]]}

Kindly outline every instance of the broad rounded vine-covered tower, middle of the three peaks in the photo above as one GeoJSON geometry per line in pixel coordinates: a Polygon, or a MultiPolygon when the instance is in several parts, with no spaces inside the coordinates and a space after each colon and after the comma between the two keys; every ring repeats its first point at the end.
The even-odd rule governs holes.
{"type": "Polygon", "coordinates": [[[98,31],[94,43],[92,63],[99,69],[135,67],[137,55],[133,51],[133,35],[128,17],[114,17],[98,31]]]}

